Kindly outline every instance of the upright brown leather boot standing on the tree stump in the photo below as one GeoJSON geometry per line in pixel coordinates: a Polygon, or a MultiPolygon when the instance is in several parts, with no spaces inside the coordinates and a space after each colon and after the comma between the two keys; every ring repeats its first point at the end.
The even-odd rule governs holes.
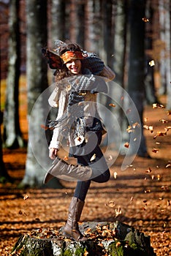
{"type": "Polygon", "coordinates": [[[82,213],[84,202],[77,197],[72,197],[69,214],[66,225],[63,229],[63,235],[67,238],[72,238],[75,241],[86,241],[88,238],[84,237],[80,233],[77,222],[80,220],[80,215],[82,213]]]}

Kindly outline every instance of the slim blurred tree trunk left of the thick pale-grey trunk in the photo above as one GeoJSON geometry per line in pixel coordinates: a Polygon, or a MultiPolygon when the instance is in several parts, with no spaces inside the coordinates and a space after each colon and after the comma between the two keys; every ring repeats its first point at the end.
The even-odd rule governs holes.
{"type": "Polygon", "coordinates": [[[18,18],[19,1],[9,4],[9,66],[7,91],[4,109],[4,144],[7,148],[23,146],[18,113],[18,94],[20,77],[20,32],[18,18]]]}

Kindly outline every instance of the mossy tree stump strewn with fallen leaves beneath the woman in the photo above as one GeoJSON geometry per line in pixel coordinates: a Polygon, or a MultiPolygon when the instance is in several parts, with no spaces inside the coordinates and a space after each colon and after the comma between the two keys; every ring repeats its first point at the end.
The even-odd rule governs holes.
{"type": "Polygon", "coordinates": [[[155,256],[150,236],[121,222],[84,222],[80,231],[88,241],[72,241],[60,230],[43,228],[20,236],[13,255],[21,256],[155,256]]]}

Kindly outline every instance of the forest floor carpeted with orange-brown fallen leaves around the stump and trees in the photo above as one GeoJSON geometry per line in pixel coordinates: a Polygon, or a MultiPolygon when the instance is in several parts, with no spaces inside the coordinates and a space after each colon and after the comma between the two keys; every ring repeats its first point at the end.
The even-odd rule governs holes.
{"type": "MultiPolygon", "coordinates": [[[[27,138],[26,108],[23,107],[20,114],[23,137],[27,138]]],[[[151,246],[157,256],[169,256],[171,129],[166,134],[164,128],[171,126],[171,115],[164,108],[147,106],[144,117],[145,124],[153,126],[153,132],[145,129],[151,158],[135,157],[126,170],[121,170],[123,157],[119,156],[110,167],[110,181],[91,183],[81,221],[118,219],[151,236],[151,246]],[[157,132],[161,133],[154,139],[157,132]],[[120,214],[116,217],[118,211],[120,214]]],[[[15,242],[24,233],[64,225],[75,189],[73,181],[61,181],[63,189],[18,189],[25,172],[26,148],[4,149],[3,158],[14,183],[0,184],[1,256],[10,255],[15,242]]]]}

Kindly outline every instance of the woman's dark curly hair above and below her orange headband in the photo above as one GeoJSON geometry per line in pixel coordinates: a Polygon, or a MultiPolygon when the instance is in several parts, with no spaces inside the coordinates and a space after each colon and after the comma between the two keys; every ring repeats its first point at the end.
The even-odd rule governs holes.
{"type": "MultiPolygon", "coordinates": [[[[66,51],[82,51],[80,46],[77,45],[76,43],[73,42],[65,42],[65,44],[63,46],[61,46],[61,48],[59,49],[59,56],[61,56],[63,53],[65,53],[66,51]]],[[[56,70],[55,73],[55,80],[56,82],[58,80],[61,80],[62,78],[66,78],[73,75],[72,72],[70,72],[67,68],[66,68],[66,64],[63,64],[61,69],[56,70]]]]}

